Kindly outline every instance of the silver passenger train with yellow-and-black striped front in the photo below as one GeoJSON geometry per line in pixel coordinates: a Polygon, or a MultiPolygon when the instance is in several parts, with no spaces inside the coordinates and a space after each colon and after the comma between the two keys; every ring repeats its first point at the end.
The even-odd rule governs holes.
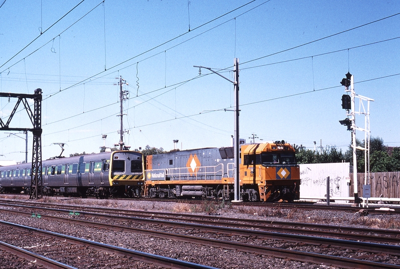
{"type": "MultiPolygon", "coordinates": [[[[0,167],[0,191],[28,192],[30,163],[0,167]]],[[[144,188],[141,152],[121,150],[54,158],[42,162],[43,193],[141,197],[144,188]]]]}

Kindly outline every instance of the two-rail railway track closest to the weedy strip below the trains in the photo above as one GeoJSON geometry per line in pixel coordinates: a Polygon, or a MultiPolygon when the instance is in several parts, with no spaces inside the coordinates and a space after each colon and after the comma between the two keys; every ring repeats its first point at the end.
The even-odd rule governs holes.
{"type": "MultiPolygon", "coordinates": [[[[50,211],[61,214],[69,214],[69,215],[73,214],[86,217],[87,216],[94,216],[98,218],[111,217],[113,219],[131,220],[131,221],[133,220],[135,222],[147,223],[147,224],[159,223],[160,225],[170,225],[169,222],[163,221],[163,220],[168,220],[170,222],[173,222],[174,225],[177,225],[178,223],[184,223],[181,226],[187,227],[190,226],[190,223],[195,222],[197,224],[210,225],[210,226],[217,225],[221,227],[235,227],[235,228],[252,229],[252,230],[257,229],[275,233],[303,234],[303,235],[312,235],[320,237],[330,237],[336,239],[357,240],[364,242],[400,244],[400,232],[395,230],[380,230],[380,229],[368,229],[368,228],[345,227],[345,226],[338,227],[332,225],[293,223],[293,222],[277,222],[277,221],[270,222],[270,221],[252,220],[252,219],[241,219],[240,221],[238,221],[237,218],[225,218],[219,216],[199,216],[193,214],[143,212],[143,211],[121,210],[121,209],[110,209],[110,208],[83,209],[82,207],[74,207],[74,206],[72,207],[57,206],[57,208],[51,209],[47,207],[48,205],[46,205],[45,207],[13,205],[13,204],[6,204],[6,205],[25,208],[27,210],[35,210],[36,212],[50,211]],[[123,216],[119,216],[117,214],[123,216]]],[[[13,212],[1,209],[0,211],[13,212]]]]}

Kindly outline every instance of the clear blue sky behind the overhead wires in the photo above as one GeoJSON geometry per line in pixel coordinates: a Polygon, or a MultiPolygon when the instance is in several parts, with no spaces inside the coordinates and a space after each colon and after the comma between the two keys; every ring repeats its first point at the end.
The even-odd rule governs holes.
{"type": "MultiPolygon", "coordinates": [[[[350,71],[356,94],[375,100],[371,135],[400,146],[399,12],[395,0],[6,0],[0,90],[42,89],[44,159],[59,154],[53,143],[66,143],[66,156],[118,143],[119,76],[129,83],[131,148],[170,150],[173,139],[182,149],[230,146],[233,84],[193,66],[226,69],[221,74],[233,80],[236,57],[242,138],[345,150],[351,135],[339,124],[346,118],[340,81],[350,71]]],[[[1,98],[3,121],[15,101],[1,98]]],[[[363,128],[364,116],[356,123],[363,128]]],[[[10,127],[30,128],[26,113],[10,127]]],[[[0,158],[23,160],[24,139],[8,136],[0,134],[0,158]]]]}

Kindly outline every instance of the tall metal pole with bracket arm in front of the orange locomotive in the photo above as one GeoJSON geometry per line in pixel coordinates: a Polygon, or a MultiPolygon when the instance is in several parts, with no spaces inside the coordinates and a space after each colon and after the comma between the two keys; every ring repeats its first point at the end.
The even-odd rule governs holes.
{"type": "MultiPolygon", "coordinates": [[[[234,158],[235,158],[235,168],[234,168],[234,191],[235,197],[232,202],[240,202],[240,141],[239,141],[239,59],[235,58],[234,60],[234,73],[235,73],[235,81],[232,81],[220,73],[215,72],[210,67],[198,66],[194,65],[193,67],[199,68],[199,73],[201,74],[201,68],[205,68],[210,70],[211,72],[217,74],[218,76],[232,82],[234,85],[234,93],[235,93],[235,130],[234,130],[234,158]]],[[[226,110],[228,111],[228,110],[226,110]]]]}

